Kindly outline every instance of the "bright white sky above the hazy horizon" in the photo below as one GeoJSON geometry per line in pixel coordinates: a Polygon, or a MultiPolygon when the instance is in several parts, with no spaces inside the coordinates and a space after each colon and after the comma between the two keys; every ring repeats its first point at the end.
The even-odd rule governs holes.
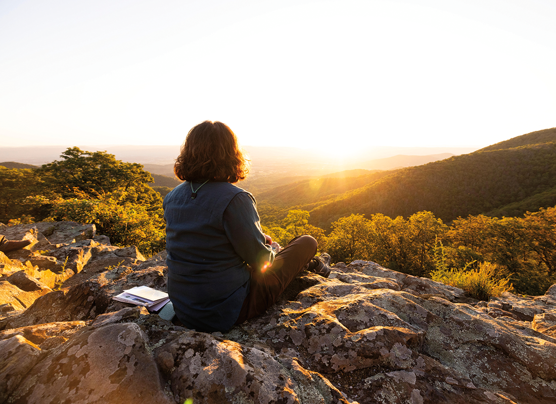
{"type": "Polygon", "coordinates": [[[1,0],[0,147],[487,146],[556,126],[554,0],[1,0]]]}

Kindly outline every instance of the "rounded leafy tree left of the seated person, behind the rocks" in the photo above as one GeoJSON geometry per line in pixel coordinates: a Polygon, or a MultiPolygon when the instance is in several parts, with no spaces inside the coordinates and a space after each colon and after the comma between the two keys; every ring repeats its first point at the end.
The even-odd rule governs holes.
{"type": "Polygon", "coordinates": [[[43,195],[26,199],[29,207],[32,201],[48,206],[39,220],[94,223],[112,243],[135,245],[142,253],[164,248],[162,198],[147,185],[153,180],[141,164],[78,147],[68,148],[61,157],[37,169],[43,195]]]}

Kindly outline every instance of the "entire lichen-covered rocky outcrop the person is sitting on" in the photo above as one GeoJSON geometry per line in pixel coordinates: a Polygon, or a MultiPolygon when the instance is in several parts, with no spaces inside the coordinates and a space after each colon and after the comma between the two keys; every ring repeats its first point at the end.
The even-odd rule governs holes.
{"type": "Polygon", "coordinates": [[[556,402],[556,285],[479,302],[373,262],[338,263],[328,279],[302,273],[265,315],[209,334],[112,300],[165,290],[165,253],[145,260],[94,231],[63,239],[39,225],[83,234],[77,223],[12,230],[49,245],[0,255],[0,402],[556,402]]]}

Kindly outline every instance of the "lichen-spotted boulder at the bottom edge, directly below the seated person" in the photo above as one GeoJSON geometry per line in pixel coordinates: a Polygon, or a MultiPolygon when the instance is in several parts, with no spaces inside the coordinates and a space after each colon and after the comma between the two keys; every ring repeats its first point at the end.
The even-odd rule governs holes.
{"type": "Polygon", "coordinates": [[[319,373],[292,358],[206,333],[182,333],[157,348],[156,360],[179,403],[348,403],[319,373]]]}

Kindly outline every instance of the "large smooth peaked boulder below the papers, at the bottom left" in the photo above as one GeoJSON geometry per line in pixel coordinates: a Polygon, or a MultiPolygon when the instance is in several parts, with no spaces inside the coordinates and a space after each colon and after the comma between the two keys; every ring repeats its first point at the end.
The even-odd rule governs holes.
{"type": "Polygon", "coordinates": [[[9,400],[170,403],[148,345],[134,323],[83,328],[27,371],[9,400]]]}

